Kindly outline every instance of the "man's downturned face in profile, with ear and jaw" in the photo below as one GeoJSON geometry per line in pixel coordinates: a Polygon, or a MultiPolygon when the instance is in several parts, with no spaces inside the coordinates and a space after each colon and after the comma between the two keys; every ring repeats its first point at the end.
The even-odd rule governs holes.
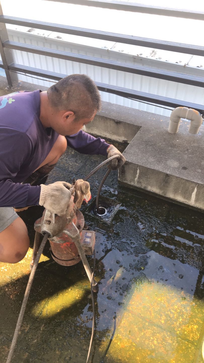
{"type": "Polygon", "coordinates": [[[94,119],[96,113],[97,111],[94,112],[92,117],[84,118],[78,121],[74,120],[75,116],[73,113],[65,113],[59,117],[59,122],[56,122],[55,125],[53,125],[53,129],[62,136],[74,135],[80,131],[84,125],[90,123],[94,119]]]}

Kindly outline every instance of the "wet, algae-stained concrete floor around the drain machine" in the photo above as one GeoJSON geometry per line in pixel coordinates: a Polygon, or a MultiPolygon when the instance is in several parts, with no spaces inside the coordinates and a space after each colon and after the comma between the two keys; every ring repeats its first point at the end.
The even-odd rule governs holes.
{"type": "MultiPolygon", "coordinates": [[[[48,183],[83,178],[104,157],[68,149],[48,183]]],[[[106,167],[89,180],[94,198],[106,167]]],[[[82,207],[96,232],[92,363],[201,363],[204,338],[204,215],[118,184],[111,172],[102,196],[121,203],[110,225],[82,207]]],[[[31,248],[15,265],[0,263],[0,362],[5,362],[29,276],[34,221],[19,215],[31,248]]],[[[88,256],[93,267],[93,257],[88,256]]],[[[86,362],[91,336],[90,284],[81,262],[52,260],[47,242],[34,278],[13,362],[86,362]]]]}

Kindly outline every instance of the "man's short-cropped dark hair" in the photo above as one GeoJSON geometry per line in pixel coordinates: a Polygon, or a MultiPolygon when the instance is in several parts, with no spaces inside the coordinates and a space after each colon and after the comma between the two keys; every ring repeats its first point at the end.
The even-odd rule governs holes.
{"type": "Polygon", "coordinates": [[[101,97],[94,81],[86,74],[70,74],[48,89],[52,107],[73,111],[75,120],[91,118],[101,109],[101,97]]]}

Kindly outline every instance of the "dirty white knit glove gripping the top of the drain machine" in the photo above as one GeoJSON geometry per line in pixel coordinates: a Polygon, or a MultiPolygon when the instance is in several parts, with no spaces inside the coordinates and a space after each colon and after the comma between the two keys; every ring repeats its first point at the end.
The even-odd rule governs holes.
{"type": "Polygon", "coordinates": [[[53,184],[41,184],[40,186],[39,204],[43,205],[49,212],[63,216],[71,198],[69,191],[71,185],[66,181],[56,181],[53,184]]]}

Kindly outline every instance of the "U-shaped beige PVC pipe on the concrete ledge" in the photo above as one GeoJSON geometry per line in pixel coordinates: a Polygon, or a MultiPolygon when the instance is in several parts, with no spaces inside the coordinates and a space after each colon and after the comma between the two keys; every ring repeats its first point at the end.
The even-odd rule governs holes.
{"type": "Polygon", "coordinates": [[[187,107],[176,107],[171,113],[170,123],[168,127],[168,132],[170,134],[176,134],[179,130],[179,123],[181,118],[186,118],[191,120],[189,127],[190,134],[197,134],[199,132],[200,126],[202,125],[203,119],[201,114],[193,109],[188,109],[187,107]]]}

